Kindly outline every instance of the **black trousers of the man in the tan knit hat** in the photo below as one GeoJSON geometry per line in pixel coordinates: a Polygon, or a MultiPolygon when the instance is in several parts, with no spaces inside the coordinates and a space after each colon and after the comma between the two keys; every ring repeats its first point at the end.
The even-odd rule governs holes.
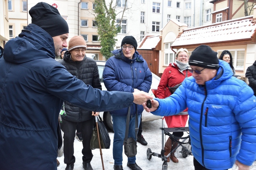
{"type": "MultiPolygon", "coordinates": [[[[75,130],[77,122],[71,122],[65,119],[62,119],[60,123],[60,128],[64,132],[63,135],[63,152],[64,152],[64,163],[65,164],[74,164],[74,139],[75,139],[75,130]]],[[[83,137],[83,162],[90,163],[93,158],[93,154],[90,149],[90,139],[91,133],[93,131],[94,119],[90,119],[84,122],[78,122],[80,131],[83,137]]]]}

